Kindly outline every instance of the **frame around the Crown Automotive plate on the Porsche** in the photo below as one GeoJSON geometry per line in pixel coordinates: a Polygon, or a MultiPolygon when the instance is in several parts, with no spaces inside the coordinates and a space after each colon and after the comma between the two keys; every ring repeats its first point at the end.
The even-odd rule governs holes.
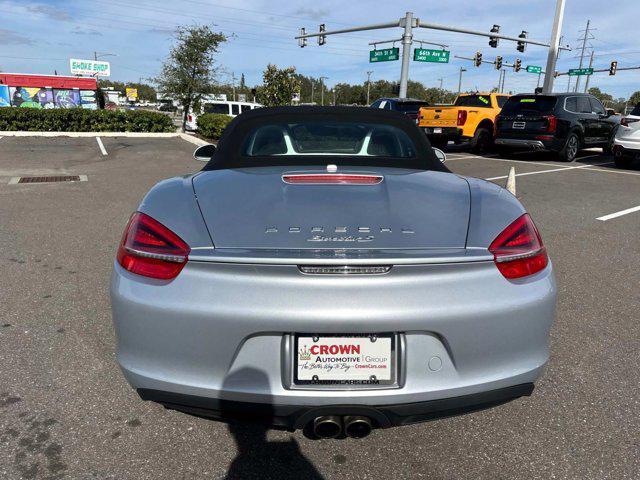
{"type": "Polygon", "coordinates": [[[375,334],[309,334],[295,333],[290,336],[290,346],[287,355],[290,359],[290,388],[292,389],[322,389],[322,390],[363,390],[363,389],[381,389],[381,388],[399,388],[399,372],[400,372],[400,341],[396,333],[375,333],[375,334]],[[329,376],[326,379],[319,378],[317,380],[301,379],[298,377],[298,353],[300,349],[301,338],[319,339],[349,339],[349,338],[367,338],[375,336],[378,339],[390,340],[390,378],[376,379],[375,381],[358,381],[358,380],[338,380],[329,376]]]}

